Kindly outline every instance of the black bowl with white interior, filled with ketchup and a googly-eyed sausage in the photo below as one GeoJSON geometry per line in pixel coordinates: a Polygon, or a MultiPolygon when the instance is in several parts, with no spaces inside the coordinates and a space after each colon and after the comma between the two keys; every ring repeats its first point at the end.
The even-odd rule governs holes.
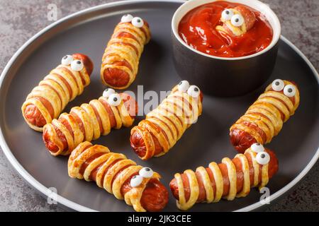
{"type": "Polygon", "coordinates": [[[261,1],[186,1],[172,18],[174,66],[203,93],[244,95],[272,75],[280,35],[279,19],[261,1]]]}

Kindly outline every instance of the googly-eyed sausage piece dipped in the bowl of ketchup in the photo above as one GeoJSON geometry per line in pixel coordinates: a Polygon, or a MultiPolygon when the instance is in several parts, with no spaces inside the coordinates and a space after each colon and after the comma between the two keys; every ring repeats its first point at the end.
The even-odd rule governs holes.
{"type": "Polygon", "coordinates": [[[218,25],[216,30],[226,32],[228,35],[240,36],[250,30],[256,22],[254,13],[245,6],[226,8],[220,18],[223,25],[218,25]]]}

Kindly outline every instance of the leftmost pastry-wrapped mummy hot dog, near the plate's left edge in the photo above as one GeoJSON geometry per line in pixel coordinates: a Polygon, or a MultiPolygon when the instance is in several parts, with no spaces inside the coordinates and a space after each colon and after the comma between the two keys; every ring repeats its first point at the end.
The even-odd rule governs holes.
{"type": "Polygon", "coordinates": [[[68,102],[82,94],[90,83],[93,63],[84,54],[66,55],[31,91],[21,110],[26,123],[35,131],[59,117],[68,102]]]}

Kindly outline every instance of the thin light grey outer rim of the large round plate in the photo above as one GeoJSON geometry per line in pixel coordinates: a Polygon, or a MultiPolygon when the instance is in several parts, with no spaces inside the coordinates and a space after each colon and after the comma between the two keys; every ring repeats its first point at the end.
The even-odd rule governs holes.
{"type": "MultiPolygon", "coordinates": [[[[1,73],[1,76],[0,76],[0,90],[2,89],[2,83],[4,82],[4,78],[6,77],[6,74],[8,73],[9,69],[11,69],[11,66],[13,66],[14,61],[16,61],[16,59],[20,56],[20,54],[29,46],[29,44],[31,44],[34,40],[36,40],[38,37],[43,35],[45,32],[47,32],[47,31],[51,30],[52,28],[54,28],[56,25],[59,25],[60,23],[66,21],[66,20],[74,18],[75,16],[82,15],[84,13],[88,13],[90,11],[96,11],[96,10],[99,10],[99,9],[102,9],[102,8],[108,8],[108,7],[111,7],[111,6],[121,6],[121,5],[126,5],[126,4],[138,4],[138,3],[147,3],[147,2],[183,3],[184,0],[131,0],[131,1],[116,1],[116,2],[111,2],[111,3],[106,3],[106,4],[101,4],[101,5],[98,5],[98,6],[93,6],[93,7],[90,7],[90,8],[86,8],[86,9],[83,9],[83,10],[78,11],[76,13],[72,13],[69,16],[65,16],[64,18],[61,18],[60,20],[57,20],[54,23],[51,23],[50,25],[47,25],[47,27],[43,28],[42,30],[37,32],[35,35],[30,37],[30,39],[27,42],[25,42],[16,51],[15,54],[13,54],[11,59],[8,61],[8,63],[4,67],[4,71],[2,71],[2,73],[1,73]]],[[[305,54],[303,54],[303,52],[301,52],[301,50],[298,49],[298,47],[296,47],[292,42],[290,42],[288,39],[286,39],[286,37],[284,37],[283,35],[281,35],[280,39],[282,41],[284,41],[286,44],[288,44],[289,47],[291,47],[293,49],[293,51],[295,51],[306,62],[306,64],[309,66],[309,68],[311,69],[311,71],[315,75],[315,78],[317,79],[317,82],[319,84],[318,71],[316,71],[315,67],[309,61],[309,59],[305,56],[305,54]]],[[[18,174],[20,174],[21,177],[23,177],[23,179],[26,180],[26,182],[28,182],[28,184],[33,186],[36,190],[40,191],[40,194],[43,194],[46,197],[49,197],[50,193],[51,193],[50,189],[48,189],[46,186],[44,186],[43,184],[38,182],[38,180],[35,179],[31,174],[29,174],[28,171],[20,164],[20,162],[18,162],[16,157],[14,157],[14,155],[11,152],[8,144],[6,143],[6,140],[4,138],[4,133],[3,133],[2,129],[1,129],[1,126],[0,126],[0,145],[1,145],[1,148],[2,148],[2,150],[4,152],[4,155],[9,160],[9,162],[11,163],[13,168],[16,169],[18,174]]],[[[313,165],[315,165],[315,162],[317,162],[318,159],[319,159],[319,147],[318,147],[318,150],[316,151],[315,155],[313,155],[313,157],[311,158],[310,162],[308,162],[308,164],[306,165],[306,167],[291,182],[289,182],[289,184],[286,184],[286,186],[284,186],[281,189],[279,189],[279,191],[276,191],[274,194],[269,196],[269,201],[274,201],[275,199],[279,198],[279,196],[282,196],[282,195],[286,194],[286,192],[289,191],[290,189],[292,189],[293,186],[296,186],[296,184],[298,184],[298,182],[301,182],[301,179],[303,179],[303,177],[305,177],[306,174],[308,174],[308,172],[313,167],[313,165]]],[[[91,208],[88,208],[86,206],[82,206],[82,205],[80,205],[78,203],[75,203],[74,201],[70,201],[68,198],[63,197],[60,194],[57,194],[57,203],[62,204],[63,206],[66,206],[67,208],[71,208],[72,210],[84,211],[84,212],[96,211],[94,209],[91,209],[91,208]]],[[[264,205],[265,205],[265,203],[262,204],[260,202],[256,202],[256,203],[251,204],[250,206],[246,206],[244,208],[240,208],[238,210],[235,210],[235,212],[245,212],[245,211],[257,210],[258,208],[262,208],[262,206],[264,206],[264,205]]]]}

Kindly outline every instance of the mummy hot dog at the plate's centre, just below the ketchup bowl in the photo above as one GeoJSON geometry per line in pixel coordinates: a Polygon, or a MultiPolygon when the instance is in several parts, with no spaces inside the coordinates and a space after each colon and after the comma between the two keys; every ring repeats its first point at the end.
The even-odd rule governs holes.
{"type": "Polygon", "coordinates": [[[203,94],[196,85],[181,81],[145,120],[130,132],[130,145],[142,160],[164,155],[202,111],[203,94]]]}

